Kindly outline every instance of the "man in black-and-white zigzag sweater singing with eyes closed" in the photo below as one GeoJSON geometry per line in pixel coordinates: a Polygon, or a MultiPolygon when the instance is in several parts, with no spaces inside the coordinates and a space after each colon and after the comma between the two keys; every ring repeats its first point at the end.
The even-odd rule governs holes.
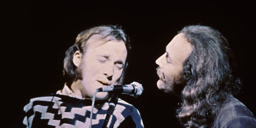
{"type": "Polygon", "coordinates": [[[96,94],[98,88],[122,84],[129,41],[120,26],[98,26],[80,32],[75,44],[66,51],[64,88],[55,94],[32,98],[24,107],[24,127],[143,128],[134,106],[118,98],[109,114],[110,94],[96,94]],[[107,114],[111,116],[106,118],[107,114]]]}

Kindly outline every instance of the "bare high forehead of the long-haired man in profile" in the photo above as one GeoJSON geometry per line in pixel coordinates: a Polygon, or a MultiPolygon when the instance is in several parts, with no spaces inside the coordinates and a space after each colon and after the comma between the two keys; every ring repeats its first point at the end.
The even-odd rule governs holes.
{"type": "MultiPolygon", "coordinates": [[[[177,34],[166,46],[166,52],[172,58],[186,59],[192,52],[193,46],[186,40],[183,33],[177,34]]],[[[182,59],[182,60],[183,60],[182,59]]]]}

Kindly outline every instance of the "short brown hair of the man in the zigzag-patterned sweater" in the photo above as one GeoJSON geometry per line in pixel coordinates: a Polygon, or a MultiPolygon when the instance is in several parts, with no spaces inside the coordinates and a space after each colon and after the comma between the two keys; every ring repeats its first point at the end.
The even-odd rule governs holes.
{"type": "MultiPolygon", "coordinates": [[[[70,46],[66,51],[66,57],[64,58],[64,69],[63,69],[63,76],[66,80],[66,84],[70,86],[73,81],[78,79],[82,80],[82,72],[77,68],[73,63],[73,55],[76,51],[82,53],[82,55],[86,52],[86,49],[90,43],[88,40],[90,38],[95,38],[97,40],[101,40],[102,42],[108,41],[123,41],[126,45],[126,49],[131,49],[130,39],[122,30],[122,27],[119,25],[104,25],[104,26],[97,26],[87,30],[84,30],[78,34],[76,37],[75,44],[70,46]]],[[[91,42],[94,43],[94,42],[91,42]]],[[[93,44],[90,44],[93,45],[93,44]]],[[[126,68],[128,66],[128,62],[126,61],[124,65],[124,70],[122,75],[119,79],[119,82],[122,83],[125,75],[126,68]]]]}

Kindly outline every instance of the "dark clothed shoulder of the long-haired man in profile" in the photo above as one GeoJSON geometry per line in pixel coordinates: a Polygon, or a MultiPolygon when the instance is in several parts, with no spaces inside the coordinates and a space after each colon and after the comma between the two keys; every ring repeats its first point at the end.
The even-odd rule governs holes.
{"type": "Polygon", "coordinates": [[[224,128],[251,128],[256,126],[256,118],[242,102],[234,98],[220,109],[214,124],[224,128]]]}

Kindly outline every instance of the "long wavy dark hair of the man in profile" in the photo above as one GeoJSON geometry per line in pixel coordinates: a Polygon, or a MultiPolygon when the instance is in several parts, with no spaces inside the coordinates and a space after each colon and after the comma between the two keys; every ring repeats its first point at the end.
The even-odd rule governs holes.
{"type": "Polygon", "coordinates": [[[233,70],[233,53],[226,38],[209,26],[186,26],[179,33],[193,51],[184,62],[186,85],[176,117],[186,128],[210,128],[223,102],[238,94],[242,84],[233,70]]]}

